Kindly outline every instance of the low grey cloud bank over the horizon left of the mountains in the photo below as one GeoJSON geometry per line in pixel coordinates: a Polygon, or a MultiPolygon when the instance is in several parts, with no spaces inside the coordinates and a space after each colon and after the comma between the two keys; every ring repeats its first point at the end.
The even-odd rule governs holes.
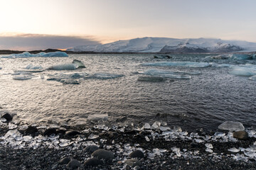
{"type": "Polygon", "coordinates": [[[66,49],[78,45],[100,44],[95,38],[44,35],[44,34],[0,34],[0,50],[46,50],[66,49]]]}

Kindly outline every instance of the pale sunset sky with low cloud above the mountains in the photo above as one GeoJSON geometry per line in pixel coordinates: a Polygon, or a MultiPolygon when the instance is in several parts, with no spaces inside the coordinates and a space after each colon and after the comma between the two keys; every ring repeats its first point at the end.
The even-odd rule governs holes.
{"type": "Polygon", "coordinates": [[[256,42],[255,0],[0,0],[0,50],[142,37],[256,42]]]}

